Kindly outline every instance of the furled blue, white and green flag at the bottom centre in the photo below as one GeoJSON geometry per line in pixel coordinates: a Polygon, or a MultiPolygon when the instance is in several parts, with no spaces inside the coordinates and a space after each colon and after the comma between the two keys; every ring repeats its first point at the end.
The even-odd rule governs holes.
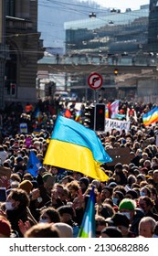
{"type": "Polygon", "coordinates": [[[95,238],[96,229],[95,229],[95,194],[94,187],[92,187],[90,192],[90,197],[88,204],[82,219],[82,223],[79,229],[79,238],[95,238]]]}

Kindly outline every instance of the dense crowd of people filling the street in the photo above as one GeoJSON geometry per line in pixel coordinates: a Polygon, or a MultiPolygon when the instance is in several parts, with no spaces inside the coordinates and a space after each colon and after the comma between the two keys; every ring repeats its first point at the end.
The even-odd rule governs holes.
{"type": "MultiPolygon", "coordinates": [[[[142,114],[155,105],[121,101],[121,113],[136,112],[130,130],[98,133],[105,150],[130,151],[129,163],[101,165],[109,176],[105,182],[43,165],[58,112],[67,106],[53,108],[40,101],[30,108],[17,103],[1,110],[0,190],[5,190],[6,198],[0,201],[0,238],[77,238],[92,187],[96,238],[158,237],[158,125],[142,123],[142,114]],[[42,121],[35,115],[38,108],[42,121]],[[27,123],[27,133],[20,133],[19,123],[27,123]],[[37,176],[27,172],[31,151],[42,164],[37,176]]],[[[75,103],[69,111],[74,109],[75,103]]]]}

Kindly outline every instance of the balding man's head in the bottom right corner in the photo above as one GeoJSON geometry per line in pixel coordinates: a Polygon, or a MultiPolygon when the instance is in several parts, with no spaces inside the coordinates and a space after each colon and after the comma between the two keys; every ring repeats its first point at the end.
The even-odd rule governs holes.
{"type": "Polygon", "coordinates": [[[152,217],[143,217],[139,223],[139,236],[144,238],[152,238],[155,225],[155,219],[152,217]]]}

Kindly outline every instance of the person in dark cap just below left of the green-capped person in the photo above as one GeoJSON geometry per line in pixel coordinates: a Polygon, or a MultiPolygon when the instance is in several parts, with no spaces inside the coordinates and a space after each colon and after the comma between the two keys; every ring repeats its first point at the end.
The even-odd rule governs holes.
{"type": "Polygon", "coordinates": [[[124,216],[121,212],[115,213],[111,219],[107,219],[108,226],[115,226],[121,230],[123,238],[134,238],[134,234],[129,230],[130,219],[124,216]]]}

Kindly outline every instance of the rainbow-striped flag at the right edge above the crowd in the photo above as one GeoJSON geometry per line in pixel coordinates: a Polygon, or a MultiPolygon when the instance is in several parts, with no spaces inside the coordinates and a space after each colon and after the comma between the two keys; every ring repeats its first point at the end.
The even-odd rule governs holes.
{"type": "Polygon", "coordinates": [[[145,126],[158,122],[158,107],[142,115],[142,122],[145,126]]]}

